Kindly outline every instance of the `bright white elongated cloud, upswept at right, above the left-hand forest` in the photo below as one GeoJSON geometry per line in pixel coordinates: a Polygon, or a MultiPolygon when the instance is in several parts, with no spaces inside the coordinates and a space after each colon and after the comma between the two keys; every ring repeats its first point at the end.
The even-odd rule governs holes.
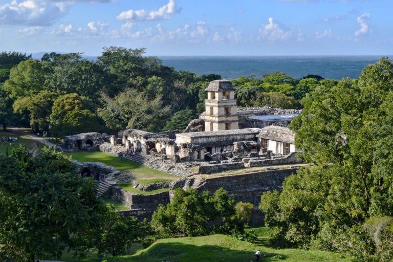
{"type": "Polygon", "coordinates": [[[169,0],[168,4],[160,7],[158,10],[147,11],[128,10],[121,12],[116,18],[118,20],[146,21],[146,20],[167,20],[172,14],[179,13],[180,9],[176,9],[174,0],[169,0]]]}

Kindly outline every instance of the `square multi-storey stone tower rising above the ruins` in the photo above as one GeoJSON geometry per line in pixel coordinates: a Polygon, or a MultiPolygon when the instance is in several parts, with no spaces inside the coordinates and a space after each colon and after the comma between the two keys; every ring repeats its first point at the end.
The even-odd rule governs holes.
{"type": "Polygon", "coordinates": [[[211,81],[205,91],[205,131],[238,129],[235,89],[231,81],[211,81]]]}

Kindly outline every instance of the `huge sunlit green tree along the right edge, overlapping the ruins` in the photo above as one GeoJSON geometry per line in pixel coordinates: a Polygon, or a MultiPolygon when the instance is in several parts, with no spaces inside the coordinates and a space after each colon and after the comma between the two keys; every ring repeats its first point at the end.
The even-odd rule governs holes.
{"type": "MultiPolygon", "coordinates": [[[[359,261],[391,260],[391,253],[378,253],[379,244],[364,248],[371,242],[362,228],[393,210],[393,63],[382,57],[359,81],[323,82],[302,103],[291,128],[301,157],[315,166],[288,177],[279,197],[263,195],[268,223],[289,245],[361,250],[359,261]],[[362,247],[351,245],[355,238],[362,247]]],[[[391,242],[386,245],[390,250],[391,242]]]]}

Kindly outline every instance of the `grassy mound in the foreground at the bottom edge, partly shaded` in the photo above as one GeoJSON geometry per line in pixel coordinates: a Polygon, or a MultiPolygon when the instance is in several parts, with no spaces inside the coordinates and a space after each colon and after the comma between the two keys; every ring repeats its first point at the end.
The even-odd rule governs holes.
{"type": "Polygon", "coordinates": [[[160,239],[150,247],[138,251],[134,255],[120,256],[118,261],[124,262],[249,262],[255,261],[254,253],[260,249],[260,261],[339,261],[350,262],[350,258],[340,254],[316,250],[272,249],[264,245],[238,241],[227,235],[209,235],[200,237],[181,237],[160,239]]]}

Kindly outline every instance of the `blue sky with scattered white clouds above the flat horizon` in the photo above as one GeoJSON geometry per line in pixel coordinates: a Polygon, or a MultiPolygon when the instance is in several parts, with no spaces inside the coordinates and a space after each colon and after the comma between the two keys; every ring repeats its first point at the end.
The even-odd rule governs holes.
{"type": "Polygon", "coordinates": [[[0,51],[391,55],[392,0],[0,0],[0,51]]]}

